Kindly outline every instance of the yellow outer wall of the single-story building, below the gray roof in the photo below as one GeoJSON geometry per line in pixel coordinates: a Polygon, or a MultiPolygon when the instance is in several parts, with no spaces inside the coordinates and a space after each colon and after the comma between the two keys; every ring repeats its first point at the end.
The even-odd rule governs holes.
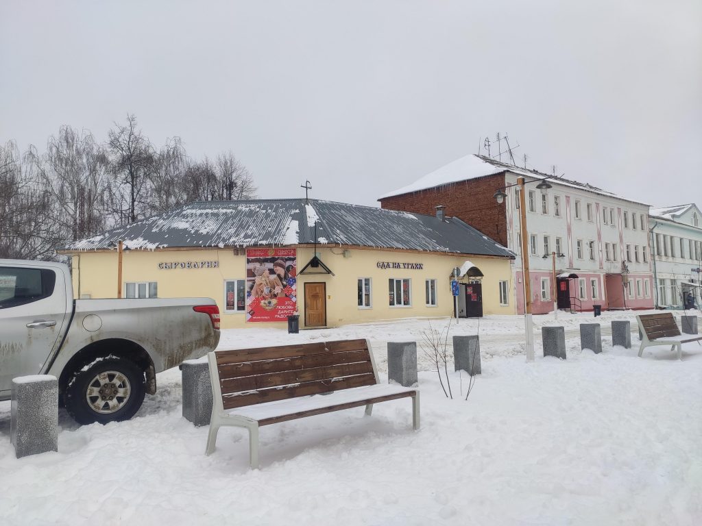
{"type": "MultiPolygon", "coordinates": [[[[304,283],[326,283],[327,325],[334,327],[347,323],[388,320],[394,318],[451,316],[449,276],[454,267],[461,267],[465,256],[435,255],[427,252],[389,252],[383,250],[351,249],[350,257],[343,256],[341,248],[317,247],[322,262],[335,276],[299,276],[298,304],[300,327],[304,327],[304,283]],[[378,262],[421,263],[422,270],[380,269],[378,262]],[[357,306],[357,280],[371,278],[371,309],[357,306]],[[388,305],[388,278],[410,278],[412,306],[388,305]],[[437,306],[425,305],[425,280],[437,279],[437,306]]],[[[298,271],[312,258],[311,248],[298,248],[298,271]]],[[[510,294],[508,306],[499,304],[498,281],[508,281],[512,290],[508,259],[471,256],[470,261],[484,274],[482,280],[484,314],[513,314],[515,306],[510,294]]],[[[159,297],[211,297],[220,307],[222,328],[243,327],[244,312],[224,312],[225,279],[246,278],[246,257],[234,255],[231,249],[199,250],[128,250],[124,252],[122,281],[156,281],[159,297]],[[159,269],[161,262],[217,261],[217,268],[159,269]]],[[[74,294],[93,298],[117,297],[117,253],[82,252],[74,257],[74,294]],[[79,261],[78,261],[79,259],[79,261]],[[80,282],[80,284],[79,284],[80,282]],[[80,286],[80,291],[78,290],[80,286]]],[[[123,285],[124,295],[124,285],[123,285]]],[[[266,323],[249,323],[264,326],[266,323]]],[[[279,323],[274,324],[281,326],[279,323]]]]}

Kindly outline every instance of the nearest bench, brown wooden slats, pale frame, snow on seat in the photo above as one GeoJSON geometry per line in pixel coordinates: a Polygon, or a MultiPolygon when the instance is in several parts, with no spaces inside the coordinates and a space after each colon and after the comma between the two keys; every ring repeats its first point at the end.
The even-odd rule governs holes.
{"type": "Polygon", "coordinates": [[[315,414],[412,398],[419,429],[419,391],[380,384],[366,339],[285,345],[208,354],[213,407],[206,454],[220,426],[249,430],[249,464],[258,468],[258,429],[315,414]]]}

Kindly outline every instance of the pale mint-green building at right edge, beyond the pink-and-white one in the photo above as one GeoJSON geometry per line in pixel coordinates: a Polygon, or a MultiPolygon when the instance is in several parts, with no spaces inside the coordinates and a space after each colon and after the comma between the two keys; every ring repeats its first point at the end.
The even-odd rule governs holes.
{"type": "Polygon", "coordinates": [[[702,213],[694,203],[651,208],[656,305],[690,308],[702,303],[702,213]]]}

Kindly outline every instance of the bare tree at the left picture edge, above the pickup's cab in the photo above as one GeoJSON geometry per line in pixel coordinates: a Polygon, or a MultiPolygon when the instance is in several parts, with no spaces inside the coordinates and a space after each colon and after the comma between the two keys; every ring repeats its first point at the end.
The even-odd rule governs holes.
{"type": "Polygon", "coordinates": [[[41,191],[13,141],[0,145],[0,257],[49,259],[60,241],[48,214],[49,194],[41,191]]]}

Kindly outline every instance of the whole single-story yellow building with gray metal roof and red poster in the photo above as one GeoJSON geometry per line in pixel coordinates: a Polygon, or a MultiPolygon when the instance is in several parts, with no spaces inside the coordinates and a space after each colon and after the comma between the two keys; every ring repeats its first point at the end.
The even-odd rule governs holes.
{"type": "Polygon", "coordinates": [[[76,297],[211,297],[222,328],[293,313],[300,328],[451,316],[456,274],[462,316],[515,313],[512,253],[437,216],[302,199],[191,203],[62,252],[76,297]]]}

